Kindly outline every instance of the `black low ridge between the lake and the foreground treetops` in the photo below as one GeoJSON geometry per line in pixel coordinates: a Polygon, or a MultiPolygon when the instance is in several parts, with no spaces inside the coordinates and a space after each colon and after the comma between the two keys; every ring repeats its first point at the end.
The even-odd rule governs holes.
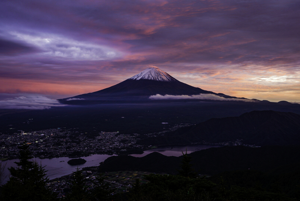
{"type": "MultiPolygon", "coordinates": [[[[232,185],[286,193],[300,198],[300,146],[214,147],[190,153],[192,167],[207,179],[232,185]]],[[[144,157],[111,156],[100,165],[100,172],[147,171],[178,174],[182,156],[150,153],[144,157]]]]}

